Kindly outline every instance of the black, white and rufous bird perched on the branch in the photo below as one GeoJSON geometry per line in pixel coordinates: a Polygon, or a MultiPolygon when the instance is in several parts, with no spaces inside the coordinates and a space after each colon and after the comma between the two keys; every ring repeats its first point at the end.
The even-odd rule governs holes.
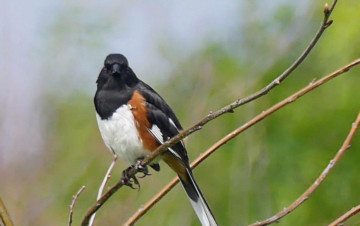
{"type": "MultiPolygon", "coordinates": [[[[128,169],[183,130],[169,105],[136,76],[122,54],[106,57],[96,83],[94,104],[101,137],[109,151],[131,165],[128,169]]],[[[160,154],[150,167],[159,171],[159,160],[179,176],[201,224],[216,226],[195,182],[183,141],[160,154]]]]}

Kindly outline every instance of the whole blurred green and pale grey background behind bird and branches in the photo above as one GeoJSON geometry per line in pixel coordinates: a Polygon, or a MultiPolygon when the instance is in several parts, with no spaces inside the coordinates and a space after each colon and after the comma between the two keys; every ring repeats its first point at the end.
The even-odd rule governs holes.
{"type": "MultiPolygon", "coordinates": [[[[0,1],[0,195],[15,225],[74,223],[94,203],[112,154],[98,132],[95,80],[109,53],[175,110],[184,128],[256,92],[301,54],[324,0],[0,1]]],[[[330,2],[329,2],[330,4],[330,2]]],[[[314,78],[360,56],[360,1],[339,1],[332,26],[264,97],[190,135],[190,160],[314,78]]],[[[219,225],[247,225],[288,206],[340,148],[359,112],[360,67],[226,143],[194,170],[219,225]]],[[[360,131],[319,188],[277,225],[325,225],[360,203],[360,131]]],[[[108,185],[126,169],[118,161],[108,185]]],[[[94,225],[121,225],[175,174],[165,165],[122,188],[94,225]]],[[[177,185],[136,225],[199,225],[177,185]]],[[[360,225],[360,215],[345,225],[360,225]]]]}

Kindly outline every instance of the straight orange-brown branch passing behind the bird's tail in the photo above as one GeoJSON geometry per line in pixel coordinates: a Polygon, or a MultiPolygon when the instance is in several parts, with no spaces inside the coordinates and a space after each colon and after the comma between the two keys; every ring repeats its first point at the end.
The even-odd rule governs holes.
{"type": "MultiPolygon", "coordinates": [[[[208,148],[204,153],[200,154],[199,157],[197,157],[192,163],[191,163],[191,168],[195,168],[197,165],[199,165],[203,160],[205,160],[205,158],[207,158],[208,156],[210,156],[210,154],[212,154],[214,151],[216,151],[216,149],[218,149],[219,147],[221,147],[223,144],[225,144],[226,142],[228,142],[229,140],[233,139],[234,137],[236,137],[239,133],[243,132],[244,130],[250,128],[252,125],[256,124],[257,122],[261,121],[262,119],[264,119],[265,117],[269,116],[270,114],[272,114],[273,112],[275,112],[276,110],[279,110],[281,107],[287,105],[288,103],[291,103],[293,101],[295,101],[298,97],[301,97],[302,95],[304,95],[305,93],[311,91],[312,89],[320,86],[321,84],[324,84],[325,82],[327,82],[328,80],[344,73],[347,72],[348,70],[350,70],[350,68],[352,68],[353,66],[360,64],[360,58],[353,61],[352,63],[338,69],[337,71],[321,78],[318,81],[312,81],[308,86],[302,88],[300,91],[292,94],[291,96],[285,98],[284,100],[276,103],[274,106],[270,107],[269,109],[267,109],[266,111],[261,112],[261,114],[253,117],[251,120],[249,120],[247,123],[245,123],[244,125],[240,126],[239,128],[235,129],[233,132],[229,133],[228,135],[226,135],[225,137],[221,138],[220,140],[218,140],[215,144],[213,144],[210,148],[208,148]]],[[[349,140],[350,142],[350,140],[349,140]]],[[[347,146],[346,146],[347,147],[347,146]]],[[[341,149],[340,149],[341,150],[341,149]]],[[[340,151],[339,151],[340,152],[340,151]]],[[[336,160],[337,161],[337,160],[336,160]]],[[[331,163],[331,162],[330,162],[331,163]]],[[[322,174],[323,175],[323,174],[322,174]]],[[[321,175],[320,175],[321,176],[321,175]]],[[[323,178],[324,179],[324,178],[323,178]]],[[[321,179],[321,180],[323,180],[321,179]]],[[[144,206],[140,207],[140,209],[134,213],[133,216],[131,216],[129,218],[129,220],[126,221],[126,223],[124,225],[132,225],[134,224],[137,220],[139,220],[139,218],[141,216],[143,216],[151,207],[154,206],[155,203],[157,203],[162,197],[164,197],[177,183],[179,182],[179,179],[177,177],[175,177],[174,179],[172,179],[164,188],[162,188],[156,195],[154,195],[153,198],[151,198],[144,206]]],[[[315,181],[315,183],[319,181],[315,181]]],[[[314,183],[314,184],[315,184],[314,183]]],[[[281,216],[282,217],[282,216],[281,216]]],[[[254,224],[257,225],[257,224],[254,224]]],[[[259,224],[261,225],[261,224],[259,224]]]]}

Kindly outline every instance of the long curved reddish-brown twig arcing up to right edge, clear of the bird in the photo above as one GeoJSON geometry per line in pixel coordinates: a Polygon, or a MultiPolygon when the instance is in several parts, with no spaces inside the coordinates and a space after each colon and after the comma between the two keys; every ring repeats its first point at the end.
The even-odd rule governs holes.
{"type": "MultiPolygon", "coordinates": [[[[296,207],[298,207],[302,202],[304,202],[307,198],[309,198],[309,195],[314,192],[314,190],[320,185],[320,183],[324,180],[324,178],[329,174],[329,171],[332,169],[332,167],[336,164],[336,162],[339,160],[339,158],[342,156],[342,154],[350,147],[350,141],[355,133],[355,130],[357,126],[360,123],[360,112],[359,115],[357,115],[357,118],[355,120],[355,123],[352,124],[349,134],[347,135],[347,138],[345,139],[344,143],[342,144],[339,151],[336,153],[335,157],[330,160],[327,167],[324,169],[324,171],[320,174],[320,176],[315,180],[315,182],[299,197],[293,202],[290,206],[284,208],[282,211],[274,215],[273,217],[270,217],[269,219],[261,222],[253,223],[250,226],[259,226],[259,225],[269,225],[270,223],[273,223],[275,221],[278,221],[283,216],[287,215],[291,211],[293,211],[296,207]]],[[[346,219],[345,219],[346,220],[346,219]]]]}

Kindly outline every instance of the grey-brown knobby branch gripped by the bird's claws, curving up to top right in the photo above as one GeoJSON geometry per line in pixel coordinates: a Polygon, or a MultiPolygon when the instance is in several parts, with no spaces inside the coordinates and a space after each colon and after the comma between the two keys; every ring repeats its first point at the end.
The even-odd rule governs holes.
{"type": "MultiPolygon", "coordinates": [[[[161,154],[162,152],[164,152],[167,148],[171,147],[172,145],[174,145],[175,143],[179,142],[179,140],[184,139],[185,137],[189,136],[190,134],[196,132],[197,130],[202,129],[202,126],[207,124],[209,121],[224,115],[226,113],[233,113],[234,109],[244,105],[245,103],[249,103],[251,101],[256,100],[257,98],[264,96],[265,94],[267,94],[271,89],[275,88],[277,85],[280,84],[280,82],[282,82],[285,78],[288,77],[288,75],[295,69],[297,68],[298,65],[300,65],[302,63],[302,61],[306,58],[307,55],[309,55],[310,51],[314,48],[315,44],[318,42],[319,38],[321,37],[321,35],[323,34],[323,32],[325,31],[326,28],[328,28],[331,24],[332,24],[332,20],[328,20],[333,9],[334,6],[336,5],[337,0],[334,0],[331,7],[329,8],[328,5],[325,5],[324,7],[324,19],[321,22],[320,28],[319,30],[316,32],[315,37],[311,40],[309,46],[307,46],[307,48],[305,49],[305,51],[298,57],[298,59],[287,69],[285,70],[281,75],[279,75],[279,77],[277,77],[276,79],[273,80],[273,82],[271,82],[270,84],[268,84],[266,87],[262,88],[261,90],[259,90],[256,93],[251,94],[250,96],[247,96],[245,98],[242,99],[238,99],[237,101],[231,103],[228,106],[223,107],[220,110],[217,110],[215,112],[210,113],[209,115],[207,115],[204,119],[202,119],[201,121],[199,121],[197,124],[195,124],[194,126],[192,126],[191,128],[184,130],[183,132],[180,132],[178,135],[176,135],[175,137],[171,138],[170,140],[168,140],[167,142],[165,142],[164,144],[162,144],[161,146],[159,146],[156,151],[152,152],[152,154],[149,154],[142,162],[142,165],[148,165],[152,159],[154,157],[156,157],[158,154],[161,154]]],[[[135,167],[130,170],[129,172],[129,176],[134,176],[135,174],[138,173],[138,170],[135,169],[135,167]]],[[[88,225],[88,222],[90,220],[90,216],[95,213],[103,204],[104,202],[106,202],[106,200],[108,198],[110,198],[118,189],[120,189],[122,187],[122,182],[118,181],[118,183],[116,183],[115,185],[113,185],[109,190],[107,190],[107,192],[105,192],[103,194],[103,196],[96,202],[94,203],[93,206],[91,206],[85,213],[83,221],[82,221],[82,226],[86,226],[88,225]]]]}

